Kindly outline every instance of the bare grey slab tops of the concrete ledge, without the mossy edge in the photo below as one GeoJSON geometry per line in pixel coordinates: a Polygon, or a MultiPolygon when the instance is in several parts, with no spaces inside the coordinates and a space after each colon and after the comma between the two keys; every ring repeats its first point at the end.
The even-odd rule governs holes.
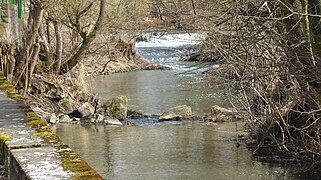
{"type": "MultiPolygon", "coordinates": [[[[8,178],[51,180],[81,177],[79,173],[83,172],[78,172],[77,176],[77,172],[63,169],[58,145],[44,143],[40,137],[34,135],[35,130],[26,124],[23,107],[23,102],[10,99],[0,90],[0,136],[5,132],[12,138],[0,146],[4,152],[8,178]]],[[[79,158],[76,161],[80,162],[79,164],[84,163],[79,158]]],[[[89,167],[89,171],[95,177],[91,179],[101,179],[95,170],[89,167]]]]}

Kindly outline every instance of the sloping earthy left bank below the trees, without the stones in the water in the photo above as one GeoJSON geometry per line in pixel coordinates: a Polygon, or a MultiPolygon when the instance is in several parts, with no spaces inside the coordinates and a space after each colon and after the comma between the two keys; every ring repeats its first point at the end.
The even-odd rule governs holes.
{"type": "Polygon", "coordinates": [[[65,75],[35,74],[26,96],[27,103],[48,122],[55,123],[61,118],[63,121],[68,121],[66,115],[84,104],[90,104],[95,108],[98,106],[99,98],[87,89],[85,81],[87,76],[133,70],[165,69],[148,62],[137,54],[133,39],[113,37],[109,43],[113,45],[111,50],[85,56],[74,69],[65,75]]]}

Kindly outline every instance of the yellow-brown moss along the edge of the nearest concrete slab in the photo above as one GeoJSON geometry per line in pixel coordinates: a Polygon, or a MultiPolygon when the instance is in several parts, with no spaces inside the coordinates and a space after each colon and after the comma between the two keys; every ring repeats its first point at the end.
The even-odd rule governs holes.
{"type": "Polygon", "coordinates": [[[67,171],[75,173],[73,179],[103,179],[85,161],[81,160],[77,153],[70,151],[67,145],[61,145],[58,149],[62,167],[67,171]]]}

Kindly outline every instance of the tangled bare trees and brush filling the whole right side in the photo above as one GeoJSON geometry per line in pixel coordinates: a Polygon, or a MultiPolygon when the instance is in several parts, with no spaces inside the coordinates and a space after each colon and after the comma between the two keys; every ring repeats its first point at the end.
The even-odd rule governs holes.
{"type": "Polygon", "coordinates": [[[213,18],[217,23],[203,51],[228,64],[223,78],[239,91],[234,105],[248,112],[255,152],[272,149],[281,152],[281,159],[320,165],[321,4],[276,0],[217,5],[223,14],[213,18]]]}

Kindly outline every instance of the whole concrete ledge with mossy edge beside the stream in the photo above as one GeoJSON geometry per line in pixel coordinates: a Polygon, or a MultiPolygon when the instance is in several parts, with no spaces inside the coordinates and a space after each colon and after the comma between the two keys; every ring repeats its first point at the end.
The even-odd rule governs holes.
{"type": "Polygon", "coordinates": [[[103,179],[23,101],[9,98],[3,90],[0,90],[0,153],[8,179],[103,179]]]}

